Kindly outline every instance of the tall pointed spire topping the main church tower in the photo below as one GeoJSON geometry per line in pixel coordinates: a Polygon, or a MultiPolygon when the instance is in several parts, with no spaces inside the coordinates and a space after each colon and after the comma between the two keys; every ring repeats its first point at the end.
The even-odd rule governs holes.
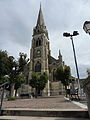
{"type": "Polygon", "coordinates": [[[39,9],[39,14],[38,14],[38,19],[37,19],[37,26],[45,26],[43,13],[42,13],[42,9],[41,9],[41,2],[40,2],[40,9],[39,9]]]}

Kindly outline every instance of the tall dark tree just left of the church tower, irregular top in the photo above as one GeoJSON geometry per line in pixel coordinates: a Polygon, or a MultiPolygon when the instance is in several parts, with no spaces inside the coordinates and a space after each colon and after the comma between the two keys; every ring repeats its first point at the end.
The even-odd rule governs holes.
{"type": "MultiPolygon", "coordinates": [[[[12,65],[11,65],[11,69],[12,69],[12,66],[14,69],[12,69],[12,72],[11,72],[11,87],[13,88],[11,90],[11,92],[15,89],[15,96],[17,94],[17,89],[19,87],[21,87],[21,84],[25,83],[26,79],[25,79],[25,74],[24,74],[24,70],[25,70],[25,66],[28,62],[28,60],[26,59],[27,55],[24,54],[24,53],[20,53],[19,54],[19,59],[18,61],[15,61],[13,58],[10,58],[12,65]]],[[[13,93],[12,93],[13,94],[13,93]]]]}

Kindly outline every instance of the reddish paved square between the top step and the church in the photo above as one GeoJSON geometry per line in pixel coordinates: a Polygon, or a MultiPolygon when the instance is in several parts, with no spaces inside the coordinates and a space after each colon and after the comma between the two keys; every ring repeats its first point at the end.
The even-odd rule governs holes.
{"type": "Polygon", "coordinates": [[[17,99],[4,101],[3,108],[29,108],[29,109],[83,109],[66,100],[63,95],[37,99],[17,99]]]}

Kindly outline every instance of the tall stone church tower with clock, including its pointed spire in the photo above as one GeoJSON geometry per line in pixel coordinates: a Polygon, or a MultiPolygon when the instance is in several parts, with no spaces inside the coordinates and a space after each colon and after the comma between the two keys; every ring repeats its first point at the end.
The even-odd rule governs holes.
{"type": "Polygon", "coordinates": [[[33,29],[32,45],[30,51],[30,78],[32,72],[49,75],[48,56],[50,56],[48,31],[40,5],[37,24],[33,29]]]}

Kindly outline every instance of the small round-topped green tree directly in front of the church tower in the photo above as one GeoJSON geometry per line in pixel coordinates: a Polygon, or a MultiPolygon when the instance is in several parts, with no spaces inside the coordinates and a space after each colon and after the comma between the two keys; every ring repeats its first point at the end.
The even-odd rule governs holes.
{"type": "Polygon", "coordinates": [[[43,74],[37,74],[34,72],[32,73],[32,79],[30,80],[30,86],[32,88],[35,88],[36,97],[45,88],[47,80],[48,80],[48,76],[46,73],[43,73],[43,74]]]}

